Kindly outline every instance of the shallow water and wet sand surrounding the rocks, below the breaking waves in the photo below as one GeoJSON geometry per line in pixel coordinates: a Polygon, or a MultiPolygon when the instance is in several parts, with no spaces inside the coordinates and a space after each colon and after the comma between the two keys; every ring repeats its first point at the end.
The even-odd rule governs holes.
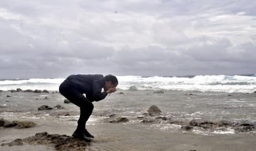
{"type": "MultiPolygon", "coordinates": [[[[116,92],[107,96],[105,100],[94,102],[94,112],[87,127],[96,137],[88,150],[254,150],[256,147],[254,131],[183,131],[181,125],[165,121],[158,124],[141,124],[141,119],[137,118],[154,104],[161,109],[162,116],[173,120],[225,119],[255,122],[255,93],[165,91],[164,94],[155,94],[150,90],[122,92],[124,94],[116,92]],[[111,114],[127,117],[129,122],[105,123],[105,119],[111,114]]],[[[58,93],[0,92],[0,118],[11,121],[30,120],[37,124],[36,127],[29,129],[1,127],[0,141],[5,140],[6,143],[42,131],[72,135],[79,118],[79,108],[74,104],[64,104],[63,100],[64,97],[58,93]],[[42,105],[54,107],[57,104],[61,104],[65,109],[37,111],[37,107],[42,105]],[[55,112],[74,112],[75,115],[56,117],[52,115],[55,112]]],[[[8,146],[0,148],[11,149],[8,146]]],[[[12,150],[24,148],[30,147],[12,147],[12,150]]],[[[31,149],[40,150],[35,146],[31,146],[31,149]]],[[[46,149],[53,148],[42,148],[46,149]]]]}

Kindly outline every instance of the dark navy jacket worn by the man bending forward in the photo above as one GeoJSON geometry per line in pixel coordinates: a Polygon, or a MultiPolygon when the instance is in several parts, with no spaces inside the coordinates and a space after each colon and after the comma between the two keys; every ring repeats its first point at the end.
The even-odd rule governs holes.
{"type": "Polygon", "coordinates": [[[101,74],[69,75],[66,81],[71,88],[85,94],[90,101],[100,101],[107,96],[107,92],[101,92],[105,86],[105,79],[101,74]]]}

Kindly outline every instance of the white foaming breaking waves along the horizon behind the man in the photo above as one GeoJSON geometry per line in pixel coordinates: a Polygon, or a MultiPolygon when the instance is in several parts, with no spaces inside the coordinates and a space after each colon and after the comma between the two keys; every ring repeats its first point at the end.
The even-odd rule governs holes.
{"type": "MultiPolygon", "coordinates": [[[[183,77],[142,77],[118,76],[118,89],[121,90],[182,90],[214,92],[254,92],[256,74],[248,75],[195,75],[183,77]]],[[[0,90],[47,89],[58,90],[63,78],[57,79],[15,79],[0,80],[0,90]]]]}

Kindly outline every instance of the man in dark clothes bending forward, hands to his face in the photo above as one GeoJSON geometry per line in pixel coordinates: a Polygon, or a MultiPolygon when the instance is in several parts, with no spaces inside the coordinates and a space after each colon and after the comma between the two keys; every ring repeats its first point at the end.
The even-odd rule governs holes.
{"type": "Polygon", "coordinates": [[[95,75],[69,75],[59,86],[59,92],[70,102],[80,107],[80,118],[78,119],[77,129],[73,133],[73,137],[80,140],[90,142],[90,138],[94,138],[86,129],[86,121],[89,119],[94,105],[93,101],[104,99],[107,94],[116,91],[118,80],[114,75],[101,74],[95,75]],[[104,92],[102,92],[104,88],[104,92]],[[86,97],[83,95],[85,94],[86,97]]]}

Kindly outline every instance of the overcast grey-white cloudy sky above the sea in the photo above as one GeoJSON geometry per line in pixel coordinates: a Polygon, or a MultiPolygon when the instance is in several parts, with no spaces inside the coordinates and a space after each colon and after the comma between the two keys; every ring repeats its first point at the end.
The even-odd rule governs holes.
{"type": "Polygon", "coordinates": [[[256,73],[256,1],[1,0],[0,79],[256,73]]]}

